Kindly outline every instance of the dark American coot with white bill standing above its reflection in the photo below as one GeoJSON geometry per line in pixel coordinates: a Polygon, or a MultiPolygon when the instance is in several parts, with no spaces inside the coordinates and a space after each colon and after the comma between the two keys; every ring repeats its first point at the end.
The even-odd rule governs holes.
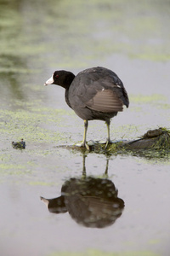
{"type": "Polygon", "coordinates": [[[75,76],[59,70],[44,85],[57,84],[65,88],[65,102],[84,120],[82,147],[89,149],[86,142],[88,120],[99,119],[107,125],[106,146],[111,143],[110,123],[117,112],[128,108],[129,100],[121,79],[105,67],[91,67],[75,76]]]}

